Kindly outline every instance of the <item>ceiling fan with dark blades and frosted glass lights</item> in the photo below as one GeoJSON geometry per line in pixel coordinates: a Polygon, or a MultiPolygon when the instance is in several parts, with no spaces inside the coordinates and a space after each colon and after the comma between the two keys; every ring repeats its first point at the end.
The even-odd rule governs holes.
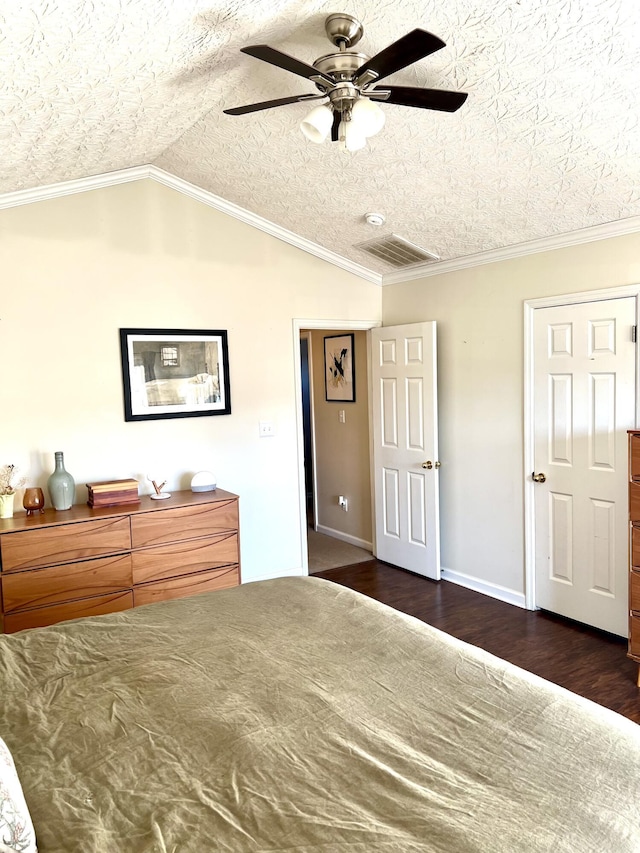
{"type": "Polygon", "coordinates": [[[276,98],[258,104],[233,107],[224,112],[237,116],[301,101],[324,100],[323,105],[315,107],[303,119],[300,125],[302,132],[312,142],[324,142],[331,134],[333,142],[340,141],[348,151],[356,151],[366,144],[367,137],[378,133],[384,125],[385,116],[376,101],[452,113],[467,99],[465,92],[449,92],[444,89],[413,86],[377,88],[378,82],[384,77],[445,46],[441,39],[426,30],[412,30],[371,59],[363,53],[348,50],[356,45],[363,35],[362,24],[352,15],[329,15],[325,20],[325,31],[339,52],[321,56],[313,65],[301,62],[266,44],[241,48],[241,51],[249,56],[306,77],[315,83],[320,94],[276,98]]]}

